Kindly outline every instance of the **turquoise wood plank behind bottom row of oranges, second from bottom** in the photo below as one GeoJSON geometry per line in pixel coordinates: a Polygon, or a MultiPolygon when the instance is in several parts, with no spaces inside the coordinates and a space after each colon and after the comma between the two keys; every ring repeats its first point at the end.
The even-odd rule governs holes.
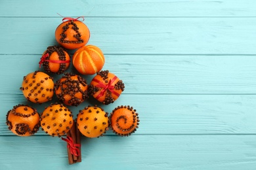
{"type": "MultiPolygon", "coordinates": [[[[57,101],[57,100],[56,100],[57,101]]],[[[14,105],[28,104],[43,112],[55,100],[42,105],[26,102],[23,95],[0,95],[0,136],[13,135],[5,124],[5,115],[14,105]]],[[[74,118],[88,105],[112,112],[119,105],[137,109],[140,117],[138,135],[158,134],[255,134],[256,95],[157,95],[123,94],[115,103],[100,105],[95,100],[79,107],[69,107],[74,118]]],[[[47,135],[39,131],[37,135],[47,135]]],[[[108,131],[107,135],[113,135],[108,131]]]]}

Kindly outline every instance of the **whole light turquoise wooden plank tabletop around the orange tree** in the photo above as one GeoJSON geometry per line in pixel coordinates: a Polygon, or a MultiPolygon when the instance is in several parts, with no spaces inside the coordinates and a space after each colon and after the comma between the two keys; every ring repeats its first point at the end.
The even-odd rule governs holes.
{"type": "Polygon", "coordinates": [[[256,169],[254,0],[1,0],[0,18],[0,169],[256,169]],[[82,137],[74,165],[60,138],[41,130],[18,137],[5,124],[14,105],[42,112],[56,100],[36,105],[19,88],[24,75],[43,71],[39,58],[62,22],[57,12],[85,16],[88,44],[125,83],[115,103],[100,106],[131,105],[140,116],[130,137],[82,137]]]}

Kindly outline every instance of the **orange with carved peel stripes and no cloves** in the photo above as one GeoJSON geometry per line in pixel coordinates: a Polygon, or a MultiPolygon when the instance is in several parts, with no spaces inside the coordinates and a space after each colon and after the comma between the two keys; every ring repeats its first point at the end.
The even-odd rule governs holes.
{"type": "Polygon", "coordinates": [[[75,69],[82,75],[94,75],[102,69],[105,58],[100,48],[87,45],[76,50],[72,62],[75,69]]]}

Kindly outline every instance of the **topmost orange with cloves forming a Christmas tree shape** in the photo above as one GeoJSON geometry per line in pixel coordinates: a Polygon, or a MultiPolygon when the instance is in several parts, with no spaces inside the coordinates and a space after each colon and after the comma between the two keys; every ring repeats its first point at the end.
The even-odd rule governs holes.
{"type": "Polygon", "coordinates": [[[56,41],[64,48],[74,50],[85,46],[90,38],[90,31],[87,25],[80,21],[66,21],[58,25],[55,31],[56,41]],[[68,29],[65,30],[65,27],[68,29]],[[75,27],[75,30],[74,28],[75,27]],[[77,36],[77,37],[74,37],[77,36]]]}

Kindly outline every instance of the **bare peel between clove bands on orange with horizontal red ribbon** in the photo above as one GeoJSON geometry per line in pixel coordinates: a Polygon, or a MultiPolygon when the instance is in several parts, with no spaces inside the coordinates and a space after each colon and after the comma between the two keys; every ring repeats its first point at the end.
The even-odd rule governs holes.
{"type": "MultiPolygon", "coordinates": [[[[43,52],[43,55],[45,55],[47,51],[43,52]]],[[[66,56],[66,61],[70,60],[70,56],[68,55],[68,53],[66,51],[64,51],[65,53],[65,56],[66,56]]],[[[58,56],[58,53],[57,52],[53,52],[53,54],[51,54],[49,60],[55,60],[55,61],[60,61],[60,58],[58,56]]],[[[52,73],[58,73],[58,71],[60,70],[60,63],[51,63],[49,61],[45,61],[45,62],[48,62],[49,64],[49,71],[52,72],[52,73]]],[[[65,63],[66,66],[64,68],[63,71],[65,71],[66,69],[68,69],[68,67],[70,67],[70,63],[65,63]]],[[[62,71],[62,73],[63,73],[62,71]]]]}

